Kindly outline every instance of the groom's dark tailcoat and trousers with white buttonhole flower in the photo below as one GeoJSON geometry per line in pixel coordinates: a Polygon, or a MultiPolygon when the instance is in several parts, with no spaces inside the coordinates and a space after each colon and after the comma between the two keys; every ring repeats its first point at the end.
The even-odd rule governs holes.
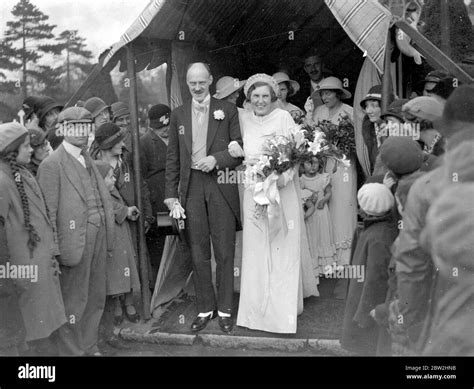
{"type": "MultiPolygon", "coordinates": [[[[240,202],[236,182],[225,182],[222,178],[227,169],[231,172],[242,162],[227,151],[231,141],[242,146],[239,117],[235,105],[211,98],[208,122],[204,122],[204,127],[207,124],[204,156],[214,156],[217,164],[211,172],[204,173],[192,167],[197,131],[201,131],[201,127],[193,126],[196,122],[193,115],[192,100],[171,113],[165,198],[179,198],[186,212],[186,236],[193,260],[198,312],[217,308],[230,314],[235,231],[241,228],[240,202]],[[210,239],[217,264],[217,304],[212,286],[210,239]]],[[[202,133],[205,134],[205,130],[202,133]]]]}

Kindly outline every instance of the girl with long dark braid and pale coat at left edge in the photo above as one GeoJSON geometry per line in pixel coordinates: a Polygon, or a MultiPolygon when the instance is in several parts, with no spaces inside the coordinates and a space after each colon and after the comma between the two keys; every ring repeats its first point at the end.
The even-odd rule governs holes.
{"type": "Polygon", "coordinates": [[[18,123],[0,125],[0,217],[5,220],[10,266],[26,265],[30,272],[14,282],[21,290],[26,341],[39,351],[66,316],[53,227],[40,187],[25,168],[31,153],[26,128],[18,123]]]}

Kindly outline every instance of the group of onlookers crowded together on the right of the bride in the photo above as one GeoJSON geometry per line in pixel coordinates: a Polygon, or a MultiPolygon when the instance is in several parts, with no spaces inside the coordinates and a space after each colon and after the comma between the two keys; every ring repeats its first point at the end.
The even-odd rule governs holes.
{"type": "Polygon", "coordinates": [[[424,96],[380,114],[374,87],[363,102],[374,171],[357,194],[351,265],[365,280],[350,280],[341,338],[357,354],[474,354],[474,87],[455,85],[433,71],[424,96]]]}

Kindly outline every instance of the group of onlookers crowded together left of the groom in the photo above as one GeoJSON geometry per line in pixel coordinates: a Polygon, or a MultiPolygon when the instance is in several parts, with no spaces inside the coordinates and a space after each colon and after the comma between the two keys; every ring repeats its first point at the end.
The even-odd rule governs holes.
{"type": "Polygon", "coordinates": [[[139,210],[125,103],[92,97],[63,109],[30,96],[22,108],[25,126],[0,125],[1,353],[98,355],[99,341],[121,346],[113,325],[140,320],[140,218],[152,285],[158,271],[164,237],[154,215],[164,182],[155,181],[164,175],[170,110],[149,110],[139,210]]]}

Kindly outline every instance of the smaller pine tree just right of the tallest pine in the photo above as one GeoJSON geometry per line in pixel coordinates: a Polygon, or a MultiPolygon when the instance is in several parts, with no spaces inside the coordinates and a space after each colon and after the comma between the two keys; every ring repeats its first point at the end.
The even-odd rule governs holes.
{"type": "Polygon", "coordinates": [[[78,35],[77,30],[65,30],[56,40],[59,42],[61,52],[66,52],[66,63],[62,70],[66,73],[67,94],[71,93],[71,73],[79,70],[82,72],[84,62],[92,58],[92,53],[86,49],[85,39],[78,35]],[[82,61],[80,60],[82,59],[82,61]]]}

